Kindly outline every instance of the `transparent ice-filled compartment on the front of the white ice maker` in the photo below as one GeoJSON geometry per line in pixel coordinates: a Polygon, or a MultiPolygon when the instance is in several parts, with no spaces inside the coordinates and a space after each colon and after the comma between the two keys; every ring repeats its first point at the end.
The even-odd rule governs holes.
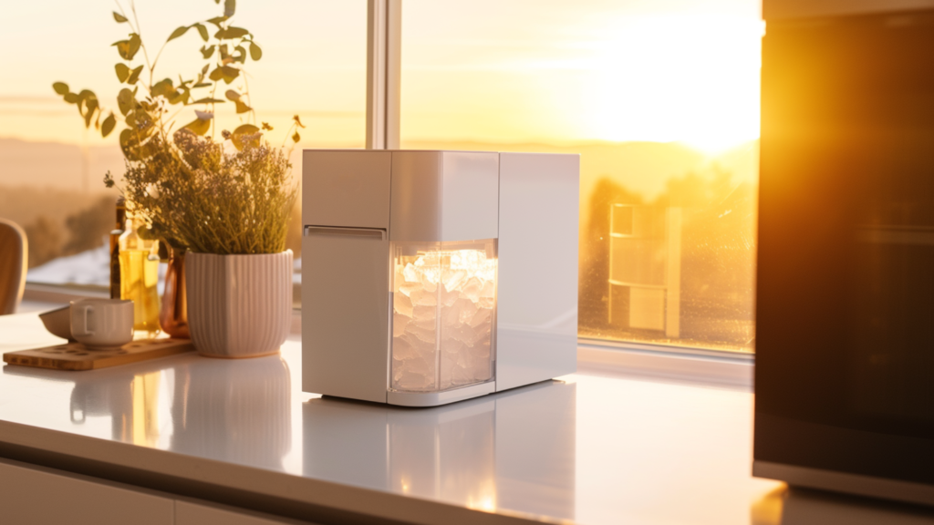
{"type": "Polygon", "coordinates": [[[493,379],[496,240],[393,243],[390,388],[493,379]]]}

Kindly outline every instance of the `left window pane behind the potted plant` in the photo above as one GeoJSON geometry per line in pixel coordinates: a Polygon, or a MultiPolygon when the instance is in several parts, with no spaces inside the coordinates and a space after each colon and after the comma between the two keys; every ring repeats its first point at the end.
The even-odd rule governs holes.
{"type": "MultiPolygon", "coordinates": [[[[131,12],[128,0],[120,5],[131,12]]],[[[222,5],[137,0],[149,53],[158,52],[179,25],[218,16],[222,5]]],[[[7,50],[7,75],[0,84],[0,217],[18,222],[29,236],[30,282],[100,287],[109,282],[106,235],[114,226],[117,192],[106,191],[102,180],[108,170],[115,176],[123,172],[119,133],[101,138],[93,127],[86,130],[76,106],[65,104],[51,85],[64,81],[73,92],[90,89],[102,106],[116,109],[120,83],[114,64],[120,57],[110,45],[129,32],[114,21],[111,11],[117,8],[101,0],[19,2],[0,17],[0,47],[7,50]]],[[[292,115],[300,115],[306,126],[292,153],[296,182],[302,148],[364,146],[365,1],[241,0],[233,20],[262,48],[262,59],[248,62],[248,76],[231,87],[248,92],[257,120],[275,128],[266,138],[288,144],[292,115]]],[[[193,77],[206,63],[201,46],[194,30],[168,43],[155,77],[193,77]]],[[[239,118],[223,106],[233,104],[218,105],[217,127],[233,129],[239,118]]],[[[178,125],[193,120],[195,108],[204,109],[183,109],[178,125]]],[[[289,240],[296,251],[296,282],[301,279],[300,217],[296,208],[289,240]]]]}

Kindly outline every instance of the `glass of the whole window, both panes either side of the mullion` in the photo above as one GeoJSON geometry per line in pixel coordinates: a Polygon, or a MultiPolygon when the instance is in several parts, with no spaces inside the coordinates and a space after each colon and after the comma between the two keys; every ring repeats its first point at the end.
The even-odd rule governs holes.
{"type": "MultiPolygon", "coordinates": [[[[215,8],[137,6],[148,39],[215,8]]],[[[248,64],[262,120],[302,115],[300,148],[363,147],[367,3],[237,8],[264,50],[248,64]]],[[[125,31],[107,9],[21,4],[0,21],[0,43],[22,49],[0,86],[0,215],[33,240],[32,282],[106,286],[115,194],[99,180],[121,173],[120,149],[50,83],[114,98],[107,45],[125,31]]],[[[581,154],[582,337],[753,350],[757,0],[405,0],[402,27],[403,148],[581,154]]],[[[166,72],[191,61],[173,44],[166,72]]]]}

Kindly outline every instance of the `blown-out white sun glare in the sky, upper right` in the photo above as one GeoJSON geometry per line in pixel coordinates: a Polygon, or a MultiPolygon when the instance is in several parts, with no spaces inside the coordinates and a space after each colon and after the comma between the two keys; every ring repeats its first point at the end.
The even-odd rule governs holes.
{"type": "Polygon", "coordinates": [[[758,137],[764,22],[636,16],[595,47],[586,129],[612,141],[685,142],[710,154],[758,137]]]}

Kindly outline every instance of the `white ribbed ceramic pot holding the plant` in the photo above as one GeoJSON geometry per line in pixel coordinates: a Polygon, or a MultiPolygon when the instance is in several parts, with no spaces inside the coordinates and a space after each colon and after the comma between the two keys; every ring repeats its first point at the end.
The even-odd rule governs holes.
{"type": "Polygon", "coordinates": [[[289,336],[292,253],[185,255],[191,342],[208,357],[274,354],[289,336]]]}

